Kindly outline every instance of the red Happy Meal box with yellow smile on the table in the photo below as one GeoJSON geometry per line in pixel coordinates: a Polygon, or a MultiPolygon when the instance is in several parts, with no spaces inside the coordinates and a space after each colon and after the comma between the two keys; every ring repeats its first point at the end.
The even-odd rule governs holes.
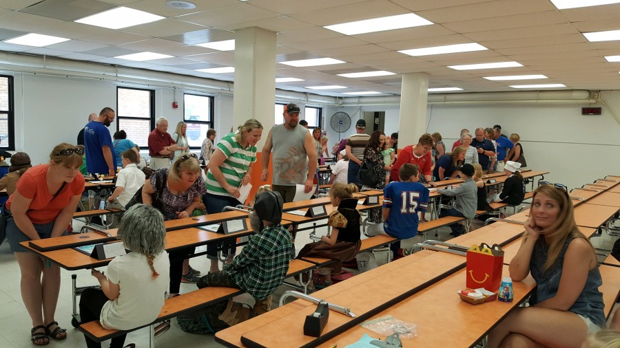
{"type": "Polygon", "coordinates": [[[470,289],[484,287],[491,292],[499,289],[504,265],[504,251],[499,245],[488,246],[482,243],[479,246],[471,246],[467,250],[466,259],[467,287],[470,289]]]}

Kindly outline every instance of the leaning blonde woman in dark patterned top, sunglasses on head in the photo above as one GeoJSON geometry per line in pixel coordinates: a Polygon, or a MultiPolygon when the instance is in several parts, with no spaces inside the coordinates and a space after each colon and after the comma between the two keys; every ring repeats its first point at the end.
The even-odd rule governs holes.
{"type": "MultiPolygon", "coordinates": [[[[200,162],[194,153],[185,153],[170,168],[160,168],[142,188],[142,202],[161,210],[165,220],[183,219],[192,215],[207,192],[200,175],[200,162]]],[[[170,296],[179,293],[180,282],[195,283],[198,271],[192,272],[189,262],[194,248],[174,250],[170,258],[170,296]]]]}

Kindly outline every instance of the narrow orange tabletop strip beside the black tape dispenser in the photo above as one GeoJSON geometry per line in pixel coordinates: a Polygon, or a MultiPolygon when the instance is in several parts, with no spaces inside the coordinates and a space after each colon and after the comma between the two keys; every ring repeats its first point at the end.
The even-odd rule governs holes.
{"type": "MultiPolygon", "coordinates": [[[[407,257],[403,259],[407,259],[407,257]]],[[[393,263],[397,264],[397,261],[393,263]]],[[[391,263],[388,263],[388,265],[391,265],[391,263]]],[[[375,314],[375,312],[380,312],[380,310],[383,309],[382,307],[389,307],[392,301],[401,301],[411,294],[428,287],[430,284],[445,278],[456,270],[464,268],[464,265],[464,257],[445,252],[435,252],[422,259],[417,259],[416,262],[407,263],[396,269],[386,270],[384,268],[376,268],[375,270],[378,270],[377,272],[372,272],[374,270],[370,271],[372,272],[371,275],[375,276],[375,279],[365,280],[355,285],[351,281],[354,281],[358,276],[354,276],[352,279],[341,283],[349,287],[346,291],[329,294],[327,296],[325,294],[316,293],[316,296],[324,298],[326,301],[350,308],[351,311],[358,316],[357,318],[349,318],[349,316],[345,316],[338,312],[330,312],[327,325],[322,331],[322,337],[330,334],[337,334],[343,329],[349,329],[357,325],[362,320],[375,314]],[[398,281],[389,281],[389,283],[386,283],[389,279],[398,279],[398,281]],[[349,282],[351,282],[351,284],[347,284],[349,282]],[[372,294],[372,296],[369,296],[369,294],[372,294]]],[[[364,274],[360,274],[360,276],[364,274]]],[[[462,283],[464,285],[465,276],[462,276],[462,283]]],[[[327,289],[333,286],[334,285],[327,289]]],[[[453,296],[458,298],[454,292],[455,291],[453,291],[453,296]]],[[[262,325],[258,327],[258,329],[246,332],[242,334],[241,342],[245,345],[249,344],[262,347],[302,347],[305,345],[316,345],[322,338],[314,338],[302,334],[305,317],[314,312],[315,309],[316,305],[310,305],[286,316],[282,316],[271,323],[262,325]],[[287,334],[273,334],[275,332],[287,334]],[[251,342],[254,342],[254,344],[251,344],[251,342]]]]}

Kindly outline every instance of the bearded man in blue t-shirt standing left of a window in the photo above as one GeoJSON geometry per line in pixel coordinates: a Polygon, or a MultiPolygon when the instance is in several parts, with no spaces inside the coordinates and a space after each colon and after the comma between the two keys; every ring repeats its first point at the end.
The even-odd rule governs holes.
{"type": "Polygon", "coordinates": [[[114,176],[114,152],[112,137],[107,127],[114,122],[116,113],[110,107],[104,107],[99,116],[84,127],[84,146],[86,147],[86,171],[90,174],[114,176]]]}

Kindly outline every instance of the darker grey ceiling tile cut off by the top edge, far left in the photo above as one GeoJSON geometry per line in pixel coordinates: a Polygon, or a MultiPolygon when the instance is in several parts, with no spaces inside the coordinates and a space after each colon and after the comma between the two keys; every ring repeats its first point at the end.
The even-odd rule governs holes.
{"type": "Polygon", "coordinates": [[[23,8],[20,12],[37,14],[43,17],[75,21],[91,14],[110,10],[116,6],[95,0],[45,0],[23,8]]]}

